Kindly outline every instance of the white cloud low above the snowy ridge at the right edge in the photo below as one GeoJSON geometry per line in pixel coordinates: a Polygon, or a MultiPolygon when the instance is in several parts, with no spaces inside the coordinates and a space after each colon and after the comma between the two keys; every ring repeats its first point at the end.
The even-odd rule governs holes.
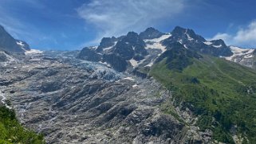
{"type": "Polygon", "coordinates": [[[212,39],[223,39],[229,45],[256,48],[256,21],[252,21],[246,27],[238,29],[237,33],[217,33],[212,39]]]}

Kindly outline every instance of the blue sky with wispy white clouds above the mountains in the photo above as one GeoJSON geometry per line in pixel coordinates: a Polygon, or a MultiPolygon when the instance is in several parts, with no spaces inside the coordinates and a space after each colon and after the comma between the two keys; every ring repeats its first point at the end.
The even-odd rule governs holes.
{"type": "Polygon", "coordinates": [[[0,25],[33,49],[81,49],[102,37],[175,25],[256,48],[255,0],[0,0],[0,25]]]}

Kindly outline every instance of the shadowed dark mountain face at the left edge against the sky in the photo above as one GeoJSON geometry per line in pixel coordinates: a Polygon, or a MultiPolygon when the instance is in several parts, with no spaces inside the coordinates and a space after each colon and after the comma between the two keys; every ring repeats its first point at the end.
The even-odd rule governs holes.
{"type": "MultiPolygon", "coordinates": [[[[21,42],[21,45],[18,45],[18,42],[0,25],[0,50],[11,53],[24,53],[25,50],[21,47],[23,43],[21,42]]],[[[27,48],[29,47],[26,44],[27,48]]]]}

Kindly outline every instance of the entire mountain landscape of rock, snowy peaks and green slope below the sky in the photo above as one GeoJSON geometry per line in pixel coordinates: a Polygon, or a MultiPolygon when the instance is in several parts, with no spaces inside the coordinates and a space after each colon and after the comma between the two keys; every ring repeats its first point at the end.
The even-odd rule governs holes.
{"type": "Polygon", "coordinates": [[[3,37],[0,103],[46,143],[256,142],[254,49],[179,26],[81,51],[3,37]]]}

